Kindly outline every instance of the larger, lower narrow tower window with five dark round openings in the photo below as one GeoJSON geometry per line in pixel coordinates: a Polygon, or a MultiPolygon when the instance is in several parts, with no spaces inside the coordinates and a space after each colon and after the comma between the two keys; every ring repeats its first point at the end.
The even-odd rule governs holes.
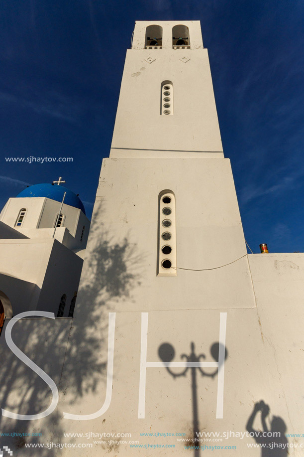
{"type": "Polygon", "coordinates": [[[158,197],[157,276],[177,276],[175,195],[163,190],[158,197]]]}

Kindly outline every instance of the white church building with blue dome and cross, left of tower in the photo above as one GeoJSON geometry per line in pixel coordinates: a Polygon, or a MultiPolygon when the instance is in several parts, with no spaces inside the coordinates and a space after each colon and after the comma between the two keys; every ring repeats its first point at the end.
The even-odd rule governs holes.
{"type": "Polygon", "coordinates": [[[0,320],[35,309],[73,314],[89,229],[80,198],[60,182],[8,199],[0,213],[0,320]]]}

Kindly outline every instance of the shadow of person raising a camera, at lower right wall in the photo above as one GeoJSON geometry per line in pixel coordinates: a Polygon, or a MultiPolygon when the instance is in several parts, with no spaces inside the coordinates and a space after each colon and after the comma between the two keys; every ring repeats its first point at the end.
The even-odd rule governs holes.
{"type": "Polygon", "coordinates": [[[285,436],[287,430],[286,424],[281,417],[273,416],[269,430],[266,424],[266,418],[269,415],[269,412],[270,408],[263,402],[263,400],[256,403],[254,405],[253,412],[248,419],[246,430],[249,433],[254,433],[252,438],[256,441],[256,443],[261,445],[261,457],[287,457],[288,440],[285,436]],[[264,435],[266,436],[263,436],[263,432],[259,432],[253,428],[253,422],[259,411],[261,411],[261,422],[264,435]]]}

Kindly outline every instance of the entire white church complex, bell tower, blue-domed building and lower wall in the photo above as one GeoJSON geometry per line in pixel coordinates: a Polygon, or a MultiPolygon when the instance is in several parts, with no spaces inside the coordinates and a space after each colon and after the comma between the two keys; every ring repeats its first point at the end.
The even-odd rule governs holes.
{"type": "Polygon", "coordinates": [[[89,221],[73,196],[53,238],[63,187],[46,186],[0,216],[14,314],[0,337],[0,447],[303,456],[286,433],[304,429],[304,254],[247,254],[199,21],[135,24],[74,317],[56,315],[77,290],[89,221]],[[18,318],[23,295],[32,314],[18,318]]]}

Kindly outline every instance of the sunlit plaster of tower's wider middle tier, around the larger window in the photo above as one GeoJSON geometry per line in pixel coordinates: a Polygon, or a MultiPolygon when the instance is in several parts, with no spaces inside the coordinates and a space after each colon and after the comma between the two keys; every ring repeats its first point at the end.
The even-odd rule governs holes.
{"type": "Polygon", "coordinates": [[[122,245],[126,239],[133,247],[129,262],[140,286],[123,309],[141,309],[143,303],[147,309],[185,309],[189,297],[197,308],[254,306],[228,159],[109,158],[101,176],[89,249],[98,253],[108,238],[122,245]],[[158,195],[164,189],[176,197],[178,273],[172,278],[156,277],[158,195]],[[192,271],[231,262],[203,276],[192,271]]]}

